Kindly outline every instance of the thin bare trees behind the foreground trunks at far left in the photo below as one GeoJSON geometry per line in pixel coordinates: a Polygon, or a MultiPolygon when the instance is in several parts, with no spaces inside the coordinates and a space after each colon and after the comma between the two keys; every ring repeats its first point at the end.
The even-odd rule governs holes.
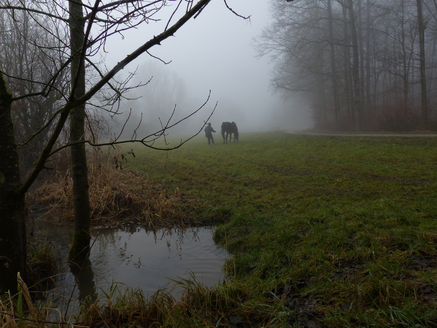
{"type": "MultiPolygon", "coordinates": [[[[65,31],[59,26],[51,26],[56,35],[42,28],[41,17],[32,16],[27,11],[17,10],[10,15],[7,10],[0,10],[0,63],[8,76],[4,76],[8,90],[15,97],[25,96],[38,90],[35,81],[48,81],[63,62],[63,55],[58,49],[66,42],[65,31]]],[[[69,72],[63,70],[55,80],[53,88],[45,97],[31,95],[14,101],[11,108],[14,122],[14,134],[18,143],[24,143],[49,120],[60,104],[59,98],[69,88],[69,72]]],[[[35,136],[27,145],[18,149],[20,167],[25,173],[33,167],[40,150],[44,147],[52,123],[35,136]]]]}

